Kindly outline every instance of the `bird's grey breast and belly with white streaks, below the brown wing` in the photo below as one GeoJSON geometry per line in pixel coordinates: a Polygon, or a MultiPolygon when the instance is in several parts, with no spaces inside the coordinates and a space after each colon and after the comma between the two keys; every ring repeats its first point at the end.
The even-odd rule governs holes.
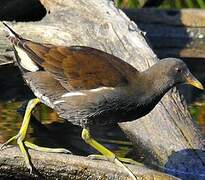
{"type": "Polygon", "coordinates": [[[126,88],[101,87],[64,93],[53,104],[62,118],[82,127],[93,127],[138,119],[153,109],[153,102],[126,88]]]}

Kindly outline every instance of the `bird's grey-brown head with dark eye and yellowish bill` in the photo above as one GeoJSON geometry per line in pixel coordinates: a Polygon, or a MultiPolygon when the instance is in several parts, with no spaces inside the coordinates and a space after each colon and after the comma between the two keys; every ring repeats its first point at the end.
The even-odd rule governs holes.
{"type": "MultiPolygon", "coordinates": [[[[158,63],[157,63],[158,64],[158,63]]],[[[169,82],[175,84],[190,84],[203,90],[203,85],[192,75],[187,65],[177,58],[165,58],[159,62],[159,72],[166,77],[169,82]]]]}

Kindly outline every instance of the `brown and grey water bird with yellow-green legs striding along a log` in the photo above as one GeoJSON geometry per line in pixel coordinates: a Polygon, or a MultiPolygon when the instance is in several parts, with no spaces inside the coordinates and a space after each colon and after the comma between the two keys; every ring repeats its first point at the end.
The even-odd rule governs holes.
{"type": "Polygon", "coordinates": [[[80,126],[82,138],[87,144],[136,179],[123,160],[92,137],[92,129],[98,128],[100,131],[103,126],[145,116],[177,84],[190,84],[203,90],[203,85],[178,58],[164,58],[148,69],[138,71],[124,60],[101,50],[34,42],[4,25],[13,46],[16,64],[36,98],[27,105],[19,133],[1,148],[17,140],[30,172],[32,166],[27,148],[70,153],[66,149],[40,147],[26,141],[32,110],[39,103],[80,126]]]}

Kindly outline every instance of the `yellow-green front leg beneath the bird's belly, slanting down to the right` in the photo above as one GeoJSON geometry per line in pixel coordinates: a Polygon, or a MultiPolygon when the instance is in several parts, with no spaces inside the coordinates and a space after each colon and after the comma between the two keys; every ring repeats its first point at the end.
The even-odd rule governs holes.
{"type": "Polygon", "coordinates": [[[126,167],[116,156],[113,152],[111,152],[109,149],[98,143],[96,140],[94,140],[88,129],[83,129],[82,131],[82,138],[84,141],[95,148],[97,151],[99,151],[101,154],[103,154],[105,157],[107,157],[109,160],[114,161],[115,164],[121,166],[124,168],[124,170],[132,177],[133,180],[136,180],[136,176],[132,173],[132,171],[126,167]]]}

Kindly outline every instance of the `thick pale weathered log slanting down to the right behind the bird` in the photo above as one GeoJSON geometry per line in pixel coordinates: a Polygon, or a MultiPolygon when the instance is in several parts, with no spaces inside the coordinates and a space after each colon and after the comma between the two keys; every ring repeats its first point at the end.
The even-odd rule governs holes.
{"type": "MultiPolygon", "coordinates": [[[[41,21],[13,23],[13,28],[25,38],[44,43],[98,48],[124,59],[140,71],[158,61],[143,32],[112,1],[41,0],[41,3],[47,9],[41,21]]],[[[0,29],[2,57],[10,58],[11,52],[2,31],[3,26],[0,29]]],[[[120,127],[136,147],[135,159],[143,157],[143,163],[147,166],[182,178],[204,176],[202,134],[191,121],[186,104],[175,88],[167,93],[149,115],[133,122],[121,123],[120,127]]],[[[15,149],[13,151],[9,157],[6,156],[7,151],[4,152],[5,156],[0,156],[1,167],[7,167],[0,168],[1,173],[11,172],[12,168],[8,167],[12,164],[9,164],[12,154],[16,153],[15,149]],[[4,157],[9,158],[8,161],[2,159],[4,157]]],[[[33,155],[35,153],[31,153],[33,155]]],[[[53,158],[60,158],[60,155],[54,155],[53,158]]],[[[71,158],[75,160],[75,157],[71,158]]],[[[47,165],[42,165],[45,165],[46,171],[47,165]]],[[[86,170],[92,173],[92,168],[86,170]]],[[[80,175],[76,173],[77,176],[80,175]]]]}

